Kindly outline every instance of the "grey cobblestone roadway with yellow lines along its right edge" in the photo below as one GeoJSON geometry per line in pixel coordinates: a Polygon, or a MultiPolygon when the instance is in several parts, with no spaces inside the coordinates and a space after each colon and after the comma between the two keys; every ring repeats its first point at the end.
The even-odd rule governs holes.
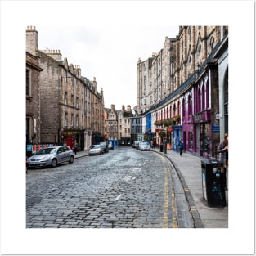
{"type": "Polygon", "coordinates": [[[26,227],[193,227],[174,174],[163,156],[132,148],[29,170],[26,227]]]}

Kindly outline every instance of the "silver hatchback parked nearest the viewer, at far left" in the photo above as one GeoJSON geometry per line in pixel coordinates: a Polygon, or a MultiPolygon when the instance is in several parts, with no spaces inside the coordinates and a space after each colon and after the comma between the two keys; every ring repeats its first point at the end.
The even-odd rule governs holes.
{"type": "Polygon", "coordinates": [[[74,162],[74,153],[70,146],[51,146],[43,150],[39,150],[36,155],[29,157],[29,167],[52,165],[56,167],[57,164],[74,162]]]}

